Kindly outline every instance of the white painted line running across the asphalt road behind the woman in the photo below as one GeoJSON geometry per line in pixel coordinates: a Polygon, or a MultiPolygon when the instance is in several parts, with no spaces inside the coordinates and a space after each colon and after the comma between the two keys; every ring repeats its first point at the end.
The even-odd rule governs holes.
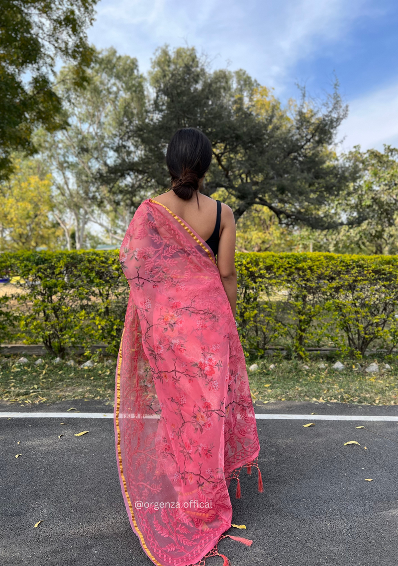
{"type": "MultiPolygon", "coordinates": [[[[134,415],[129,415],[134,417],[134,415]]],[[[1,413],[0,418],[53,418],[53,419],[113,419],[113,413],[1,413]]],[[[123,415],[120,414],[119,418],[123,415]]],[[[280,419],[286,421],[396,421],[398,415],[293,415],[293,414],[273,414],[256,413],[256,419],[280,419]]],[[[144,418],[157,419],[158,415],[146,415],[144,418]]]]}

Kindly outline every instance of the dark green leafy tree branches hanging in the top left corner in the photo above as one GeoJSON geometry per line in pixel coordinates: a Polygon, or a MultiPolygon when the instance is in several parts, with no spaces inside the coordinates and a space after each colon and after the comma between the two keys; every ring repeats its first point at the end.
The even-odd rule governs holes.
{"type": "Polygon", "coordinates": [[[35,152],[33,131],[65,126],[52,84],[61,58],[73,62],[71,80],[86,81],[92,59],[86,29],[97,0],[2,0],[0,11],[0,177],[12,170],[11,153],[35,152]]]}

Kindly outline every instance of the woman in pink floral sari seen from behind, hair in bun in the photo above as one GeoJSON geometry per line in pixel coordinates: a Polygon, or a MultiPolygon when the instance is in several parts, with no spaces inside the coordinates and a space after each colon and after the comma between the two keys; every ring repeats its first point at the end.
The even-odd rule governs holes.
{"type": "Polygon", "coordinates": [[[114,420],[130,524],[154,564],[187,566],[231,536],[227,487],[238,479],[240,497],[234,470],[258,469],[260,445],[235,325],[234,215],[200,193],[210,141],[179,130],[166,161],[172,190],[139,205],[120,248],[130,296],[114,420]]]}

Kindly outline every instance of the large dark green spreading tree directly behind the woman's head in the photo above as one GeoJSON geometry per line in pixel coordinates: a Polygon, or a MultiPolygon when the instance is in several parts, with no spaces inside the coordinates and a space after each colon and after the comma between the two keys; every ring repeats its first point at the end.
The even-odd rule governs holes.
{"type": "Polygon", "coordinates": [[[139,137],[145,153],[131,158],[125,151],[129,135],[121,139],[107,171],[113,182],[145,168],[164,190],[170,183],[164,160],[168,141],[177,128],[192,126],[213,146],[205,191],[211,195],[225,188],[234,196],[236,220],[253,205],[268,208],[286,225],[327,229],[362,220],[336,218],[327,206],[348,190],[357,173],[334,148],[348,112],[337,83],[321,104],[302,91],[299,102],[282,108],[245,71],[211,72],[194,48],[171,52],[168,46],[155,53],[149,82],[145,128],[126,130],[139,137]]]}

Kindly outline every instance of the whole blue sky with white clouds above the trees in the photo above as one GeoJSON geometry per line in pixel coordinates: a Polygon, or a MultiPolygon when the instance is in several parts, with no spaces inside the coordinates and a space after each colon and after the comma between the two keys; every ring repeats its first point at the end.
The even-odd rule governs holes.
{"type": "Polygon", "coordinates": [[[398,146],[397,0],[100,0],[89,38],[137,57],[196,46],[213,68],[244,68],[282,101],[330,91],[333,73],[350,108],[344,149],[398,146]]]}

